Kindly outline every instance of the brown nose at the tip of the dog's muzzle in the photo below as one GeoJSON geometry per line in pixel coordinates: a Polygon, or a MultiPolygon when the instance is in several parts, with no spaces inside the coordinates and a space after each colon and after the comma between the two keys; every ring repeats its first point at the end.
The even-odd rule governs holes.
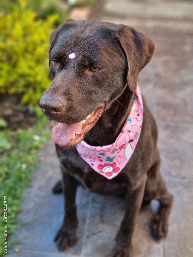
{"type": "Polygon", "coordinates": [[[50,116],[52,118],[63,112],[65,103],[62,103],[58,99],[45,100],[41,98],[39,101],[39,107],[45,115],[50,116]]]}

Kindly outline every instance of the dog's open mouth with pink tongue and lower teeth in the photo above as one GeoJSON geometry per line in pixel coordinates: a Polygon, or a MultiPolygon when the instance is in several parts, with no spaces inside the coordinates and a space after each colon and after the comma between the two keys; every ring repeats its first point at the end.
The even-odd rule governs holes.
{"type": "Polygon", "coordinates": [[[52,129],[52,138],[56,144],[62,146],[73,146],[78,144],[84,137],[84,133],[89,131],[100,118],[105,104],[96,108],[91,114],[84,118],[84,120],[73,123],[65,124],[58,123],[52,129]]]}

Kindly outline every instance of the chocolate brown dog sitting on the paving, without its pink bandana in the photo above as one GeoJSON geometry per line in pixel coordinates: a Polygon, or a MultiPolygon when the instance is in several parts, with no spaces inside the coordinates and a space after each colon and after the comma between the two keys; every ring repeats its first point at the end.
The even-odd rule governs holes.
{"type": "MultiPolygon", "coordinates": [[[[161,205],[150,223],[154,238],[158,240],[168,232],[173,196],[159,171],[157,129],[156,125],[151,126],[154,119],[143,100],[143,123],[133,155],[115,178],[104,177],[95,186],[93,181],[101,175],[80,157],[75,145],[83,139],[92,146],[115,141],[133,104],[138,73],[150,61],[154,49],[149,38],[131,27],[96,20],[66,20],[50,37],[53,81],[39,106],[49,120],[60,122],[57,136],[53,136],[61,162],[65,210],[75,202],[78,184],[90,192],[106,195],[125,196],[128,190],[134,192],[125,201],[125,216],[116,236],[115,248],[119,242],[125,246],[115,256],[131,256],[131,238],[142,200],[150,203],[155,199],[161,205]],[[69,58],[72,53],[76,54],[73,61],[69,58]],[[118,115],[125,109],[124,115],[118,115]],[[80,127],[85,117],[87,120],[80,127]],[[111,126],[114,118],[118,121],[111,126]],[[75,134],[72,136],[72,131],[65,134],[65,126],[75,134]],[[111,127],[108,132],[102,133],[108,127],[111,127]],[[67,167],[67,163],[73,163],[72,167],[67,167]]],[[[65,216],[55,237],[60,251],[76,242],[77,225],[74,208],[65,216]]]]}

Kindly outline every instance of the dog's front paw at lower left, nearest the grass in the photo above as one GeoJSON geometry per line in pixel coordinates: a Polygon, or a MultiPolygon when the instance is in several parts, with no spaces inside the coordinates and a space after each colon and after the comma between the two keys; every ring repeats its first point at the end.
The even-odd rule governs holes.
{"type": "Polygon", "coordinates": [[[64,251],[66,248],[76,244],[76,230],[70,230],[62,226],[56,233],[54,242],[56,242],[59,251],[64,251]]]}

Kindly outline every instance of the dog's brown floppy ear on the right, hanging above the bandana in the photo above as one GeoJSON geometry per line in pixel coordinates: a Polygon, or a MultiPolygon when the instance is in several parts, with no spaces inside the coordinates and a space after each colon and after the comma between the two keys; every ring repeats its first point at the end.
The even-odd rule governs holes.
{"type": "Polygon", "coordinates": [[[155,45],[147,36],[129,26],[120,25],[116,34],[127,58],[128,85],[134,92],[138,74],[151,60],[155,45]]]}

